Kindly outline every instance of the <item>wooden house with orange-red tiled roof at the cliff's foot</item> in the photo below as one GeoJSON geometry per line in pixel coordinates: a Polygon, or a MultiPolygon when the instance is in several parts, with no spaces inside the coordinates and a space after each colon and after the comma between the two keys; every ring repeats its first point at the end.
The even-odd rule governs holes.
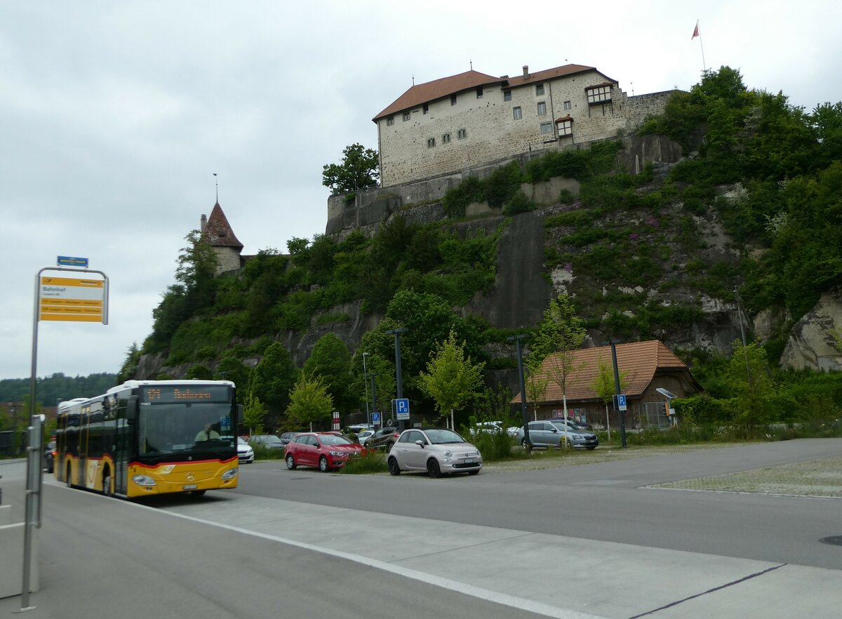
{"type": "MultiPolygon", "coordinates": [[[[617,370],[622,376],[622,392],[626,395],[628,407],[625,416],[627,428],[669,423],[665,408],[665,405],[669,405],[669,399],[662,392],[658,392],[658,389],[663,389],[677,398],[702,391],[684,361],[657,339],[616,344],[616,354],[617,370]]],[[[611,347],[600,346],[575,350],[573,359],[574,370],[568,376],[568,417],[605,426],[605,402],[597,396],[594,382],[600,375],[600,366],[605,366],[610,371],[611,384],[614,382],[611,347]]],[[[529,401],[530,394],[527,388],[527,409],[530,412],[530,419],[563,416],[562,389],[552,379],[552,366],[557,366],[557,364],[557,355],[550,355],[537,372],[537,376],[548,378],[546,392],[539,402],[529,401]]],[[[520,404],[520,394],[512,402],[520,404]]],[[[607,414],[610,416],[610,426],[616,428],[619,424],[619,414],[613,408],[612,403],[608,403],[607,414]]]]}

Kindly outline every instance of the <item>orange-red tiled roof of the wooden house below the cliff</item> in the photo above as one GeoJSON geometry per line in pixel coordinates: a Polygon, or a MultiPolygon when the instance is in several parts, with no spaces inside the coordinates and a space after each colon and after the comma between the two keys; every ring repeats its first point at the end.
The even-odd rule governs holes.
{"type": "MultiPolygon", "coordinates": [[[[623,388],[623,392],[630,398],[639,397],[646,390],[655,376],[655,371],[689,372],[684,361],[675,356],[658,339],[631,344],[616,344],[616,349],[617,369],[621,373],[628,372],[626,375],[627,384],[623,388]]],[[[596,398],[594,387],[591,387],[591,385],[600,373],[600,362],[607,364],[613,373],[611,347],[600,346],[575,350],[573,351],[573,359],[573,366],[576,369],[568,376],[568,401],[596,398]]],[[[552,366],[557,366],[557,355],[548,356],[541,364],[539,372],[541,375],[546,375],[547,368],[552,366]]],[[[552,373],[550,376],[543,400],[545,402],[561,402],[564,395],[562,389],[557,382],[552,380],[552,373]]],[[[520,403],[520,394],[515,396],[512,402],[520,403]]]]}

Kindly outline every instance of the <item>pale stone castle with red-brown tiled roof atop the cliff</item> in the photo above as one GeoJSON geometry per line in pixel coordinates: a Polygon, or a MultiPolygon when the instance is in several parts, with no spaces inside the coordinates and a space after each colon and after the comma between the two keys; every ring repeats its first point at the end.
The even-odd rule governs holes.
{"type": "Polygon", "coordinates": [[[670,93],[630,97],[616,80],[575,64],[525,66],[517,77],[471,70],[413,85],[372,119],[381,187],[616,137],[662,113],[670,93]]]}

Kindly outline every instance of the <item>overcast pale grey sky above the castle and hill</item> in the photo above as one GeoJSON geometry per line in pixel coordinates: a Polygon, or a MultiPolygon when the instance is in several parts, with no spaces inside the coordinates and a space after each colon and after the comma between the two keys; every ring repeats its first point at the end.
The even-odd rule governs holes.
{"type": "Polygon", "coordinates": [[[832,0],[4,0],[0,379],[119,371],[215,182],[244,254],[323,234],[322,167],[376,149],[413,79],[569,62],[644,94],[724,65],[811,111],[842,101],[840,23],[832,0]],[[35,346],[57,256],[108,276],[109,324],[40,322],[35,346]]]}

